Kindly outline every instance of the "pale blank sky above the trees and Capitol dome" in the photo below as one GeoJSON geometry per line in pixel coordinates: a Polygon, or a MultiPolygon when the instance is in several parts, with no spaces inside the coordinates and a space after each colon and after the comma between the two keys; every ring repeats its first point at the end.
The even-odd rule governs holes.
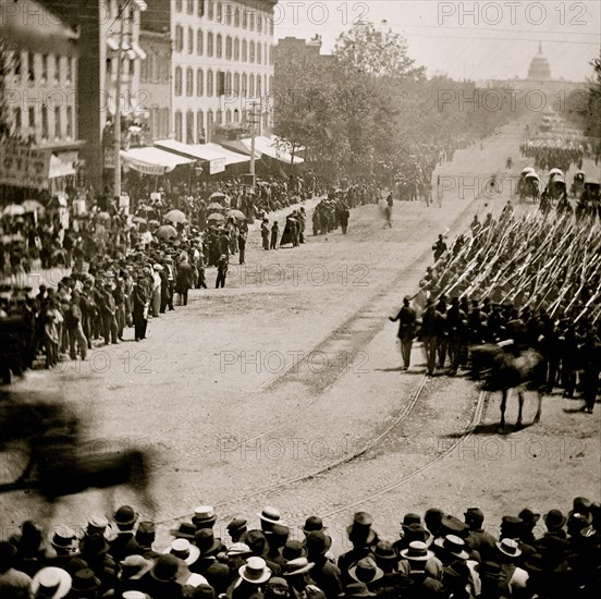
{"type": "Polygon", "coordinates": [[[585,81],[601,45],[599,0],[280,0],[275,38],[319,34],[330,53],[360,19],[402,34],[428,75],[456,80],[525,78],[540,41],[553,78],[585,81]]]}

